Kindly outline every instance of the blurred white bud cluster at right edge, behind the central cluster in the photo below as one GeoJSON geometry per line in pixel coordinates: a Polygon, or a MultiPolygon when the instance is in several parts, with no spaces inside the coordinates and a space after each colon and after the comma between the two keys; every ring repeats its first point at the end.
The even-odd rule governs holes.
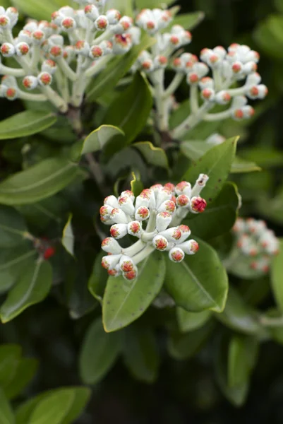
{"type": "Polygon", "coordinates": [[[270,269],[270,261],[279,253],[279,240],[265,221],[254,218],[238,218],[233,228],[236,237],[236,248],[239,253],[250,259],[251,269],[266,273],[270,269]]]}

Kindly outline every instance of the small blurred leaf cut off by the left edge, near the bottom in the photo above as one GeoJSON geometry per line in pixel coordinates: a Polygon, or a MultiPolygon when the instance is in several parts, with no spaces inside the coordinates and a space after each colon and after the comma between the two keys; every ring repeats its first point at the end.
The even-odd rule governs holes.
{"type": "Polygon", "coordinates": [[[18,345],[0,346],[0,386],[6,386],[16,374],[22,349],[18,345]]]}

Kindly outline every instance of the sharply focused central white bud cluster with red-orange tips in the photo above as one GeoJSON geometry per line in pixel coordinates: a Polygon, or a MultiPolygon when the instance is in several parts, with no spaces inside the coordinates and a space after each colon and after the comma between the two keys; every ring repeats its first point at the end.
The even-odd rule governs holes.
{"type": "Polygon", "coordinates": [[[100,217],[104,224],[111,225],[111,237],[102,242],[102,249],[108,253],[103,257],[102,266],[110,276],[123,275],[126,280],[138,276],[137,265],[155,249],[168,252],[171,261],[183,261],[186,254],[198,252],[198,243],[188,240],[191,230],[181,225],[188,213],[203,213],[206,201],[200,197],[207,175],[200,174],[193,188],[183,181],[174,186],[167,183],[155,184],[144,189],[136,198],[126,190],[116,198],[104,199],[100,217]],[[131,247],[121,247],[117,240],[126,235],[139,240],[131,247]]]}

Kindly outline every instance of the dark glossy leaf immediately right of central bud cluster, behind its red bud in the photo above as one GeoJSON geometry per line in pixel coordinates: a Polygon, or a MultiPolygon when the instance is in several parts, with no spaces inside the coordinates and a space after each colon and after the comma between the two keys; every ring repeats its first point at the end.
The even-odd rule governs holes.
{"type": "Polygon", "coordinates": [[[191,228],[192,237],[209,240],[212,237],[228,232],[233,227],[240,204],[240,196],[235,184],[227,182],[224,184],[219,196],[205,209],[205,213],[192,216],[185,220],[191,228]]]}

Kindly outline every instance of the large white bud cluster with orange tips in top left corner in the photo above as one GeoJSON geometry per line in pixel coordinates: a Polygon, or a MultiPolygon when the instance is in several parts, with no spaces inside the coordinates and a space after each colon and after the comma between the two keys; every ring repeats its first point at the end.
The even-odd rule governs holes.
{"type": "MultiPolygon", "coordinates": [[[[12,29],[17,23],[18,11],[13,7],[6,10],[0,7],[1,56],[13,57],[21,66],[20,69],[8,68],[0,63],[0,73],[21,78],[27,90],[39,88],[47,96],[45,100],[53,102],[61,112],[66,112],[70,103],[79,106],[91,78],[100,73],[112,57],[126,54],[140,42],[140,29],[133,26],[133,19],[121,16],[116,9],[105,11],[105,1],[77,3],[83,8],[61,7],[52,13],[51,22],[28,21],[16,37],[12,29]],[[71,98],[70,93],[62,89],[62,78],[71,80],[76,97],[71,98]],[[54,83],[58,95],[49,87],[55,86],[54,83]]],[[[13,100],[4,88],[0,95],[13,100]]],[[[32,93],[23,95],[20,90],[16,97],[40,99],[32,93]]]]}

